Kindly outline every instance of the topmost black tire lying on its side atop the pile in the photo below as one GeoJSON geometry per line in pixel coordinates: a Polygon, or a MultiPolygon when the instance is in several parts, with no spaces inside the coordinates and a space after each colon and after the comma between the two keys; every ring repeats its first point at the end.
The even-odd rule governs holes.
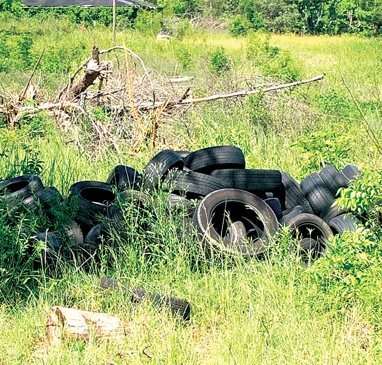
{"type": "Polygon", "coordinates": [[[243,152],[235,146],[207,147],[190,153],[184,161],[192,171],[207,175],[218,169],[245,168],[243,152]]]}

